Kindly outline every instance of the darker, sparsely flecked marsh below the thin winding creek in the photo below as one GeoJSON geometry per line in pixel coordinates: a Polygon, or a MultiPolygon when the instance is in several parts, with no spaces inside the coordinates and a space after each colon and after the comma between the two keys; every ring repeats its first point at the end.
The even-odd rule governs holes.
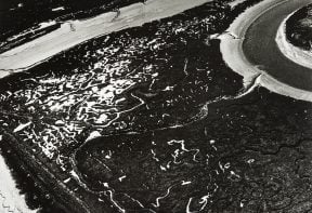
{"type": "Polygon", "coordinates": [[[208,108],[185,128],[89,142],[77,171],[136,211],[310,210],[311,104],[260,89],[208,108]]]}

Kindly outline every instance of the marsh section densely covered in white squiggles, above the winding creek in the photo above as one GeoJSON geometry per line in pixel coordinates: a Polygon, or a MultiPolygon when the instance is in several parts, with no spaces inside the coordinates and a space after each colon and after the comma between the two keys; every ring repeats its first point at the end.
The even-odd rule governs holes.
{"type": "MultiPolygon", "coordinates": [[[[6,78],[2,131],[23,141],[18,146],[39,155],[76,190],[80,183],[69,157],[88,137],[178,128],[205,115],[206,102],[239,90],[240,78],[229,78],[218,42],[207,40],[224,28],[230,12],[208,3],[92,40],[6,78]]],[[[109,195],[106,199],[113,202],[109,195]]]]}

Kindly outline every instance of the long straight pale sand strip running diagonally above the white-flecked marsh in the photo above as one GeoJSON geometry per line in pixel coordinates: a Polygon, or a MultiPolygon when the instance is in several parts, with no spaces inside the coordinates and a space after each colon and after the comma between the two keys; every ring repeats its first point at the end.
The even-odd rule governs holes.
{"type": "Polygon", "coordinates": [[[121,8],[117,18],[116,12],[109,12],[84,21],[64,23],[60,29],[2,53],[0,70],[3,71],[0,72],[0,78],[10,75],[9,70],[30,68],[92,38],[142,26],[144,23],[169,17],[209,1],[211,0],[150,0],[145,4],[134,3],[121,8]]]}

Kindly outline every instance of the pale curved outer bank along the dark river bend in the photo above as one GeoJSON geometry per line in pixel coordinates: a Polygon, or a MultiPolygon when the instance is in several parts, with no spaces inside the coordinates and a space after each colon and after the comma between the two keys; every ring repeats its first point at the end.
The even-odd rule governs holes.
{"type": "Polygon", "coordinates": [[[291,0],[264,0],[255,6],[247,9],[227,29],[227,31],[243,39],[233,39],[230,36],[223,36],[221,37],[220,49],[223,59],[227,66],[244,77],[245,85],[248,85],[249,82],[255,79],[255,77],[261,75],[259,84],[269,89],[270,91],[285,96],[290,96],[292,98],[312,102],[312,92],[300,90],[280,82],[277,79],[274,79],[268,75],[265,70],[261,70],[259,67],[248,62],[243,52],[243,41],[249,26],[268,10],[278,6],[278,4],[287,3],[287,1],[291,0]]]}

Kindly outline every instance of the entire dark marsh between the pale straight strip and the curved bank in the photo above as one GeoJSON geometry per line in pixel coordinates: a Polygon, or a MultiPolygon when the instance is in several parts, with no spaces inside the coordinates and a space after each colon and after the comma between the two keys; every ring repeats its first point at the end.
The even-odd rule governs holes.
{"type": "Polygon", "coordinates": [[[208,39],[248,3],[207,3],[3,79],[2,151],[29,205],[311,211],[312,105],[262,88],[238,98],[242,78],[208,39]]]}

